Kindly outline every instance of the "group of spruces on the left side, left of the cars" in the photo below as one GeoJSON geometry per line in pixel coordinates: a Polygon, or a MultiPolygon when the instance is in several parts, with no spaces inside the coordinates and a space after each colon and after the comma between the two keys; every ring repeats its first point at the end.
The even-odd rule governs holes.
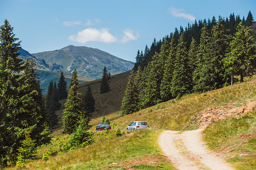
{"type": "MultiPolygon", "coordinates": [[[[24,163],[35,159],[36,150],[51,142],[51,131],[58,124],[56,111],[59,100],[67,98],[61,118],[63,133],[71,134],[65,151],[93,142],[90,115],[95,110],[95,100],[90,86],[84,96],[78,91],[77,71],[67,92],[63,73],[58,84],[50,82],[46,99],[42,95],[39,75],[32,59],[19,59],[21,48],[13,27],[5,20],[0,27],[0,167],[24,163]],[[18,41],[18,42],[17,42],[18,41]]],[[[101,93],[110,91],[110,73],[104,67],[101,93]]],[[[49,157],[44,154],[43,159],[49,157]]]]}

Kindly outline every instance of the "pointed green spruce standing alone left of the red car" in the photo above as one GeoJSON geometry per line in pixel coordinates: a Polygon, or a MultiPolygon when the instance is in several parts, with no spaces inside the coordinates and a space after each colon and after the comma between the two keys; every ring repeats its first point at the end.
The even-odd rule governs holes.
{"type": "Polygon", "coordinates": [[[63,133],[68,134],[75,132],[76,128],[79,126],[80,116],[86,114],[82,94],[78,91],[79,83],[76,69],[73,71],[72,84],[73,86],[71,86],[68,92],[68,99],[64,104],[65,109],[62,116],[63,133]]]}

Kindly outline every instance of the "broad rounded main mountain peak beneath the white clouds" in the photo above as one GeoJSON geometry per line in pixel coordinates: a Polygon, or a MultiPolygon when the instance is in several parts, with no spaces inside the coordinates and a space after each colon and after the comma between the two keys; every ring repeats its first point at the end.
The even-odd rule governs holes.
{"type": "Polygon", "coordinates": [[[60,70],[72,73],[76,68],[77,75],[100,79],[104,66],[112,75],[133,69],[134,63],[113,56],[102,50],[86,46],[69,45],[60,50],[33,53],[36,58],[43,59],[48,65],[56,63],[63,66],[60,70]]]}

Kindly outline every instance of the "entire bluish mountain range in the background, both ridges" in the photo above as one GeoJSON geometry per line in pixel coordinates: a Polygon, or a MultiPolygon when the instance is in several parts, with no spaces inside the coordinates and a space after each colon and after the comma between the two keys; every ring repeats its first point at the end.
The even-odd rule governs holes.
{"type": "Polygon", "coordinates": [[[60,50],[35,54],[30,54],[24,49],[20,49],[19,52],[19,58],[34,60],[43,94],[47,93],[50,81],[58,82],[61,71],[63,71],[67,86],[69,86],[75,68],[78,72],[79,83],[83,83],[100,79],[104,66],[112,75],[129,71],[134,66],[133,62],[86,46],[69,45],[60,50]]]}

